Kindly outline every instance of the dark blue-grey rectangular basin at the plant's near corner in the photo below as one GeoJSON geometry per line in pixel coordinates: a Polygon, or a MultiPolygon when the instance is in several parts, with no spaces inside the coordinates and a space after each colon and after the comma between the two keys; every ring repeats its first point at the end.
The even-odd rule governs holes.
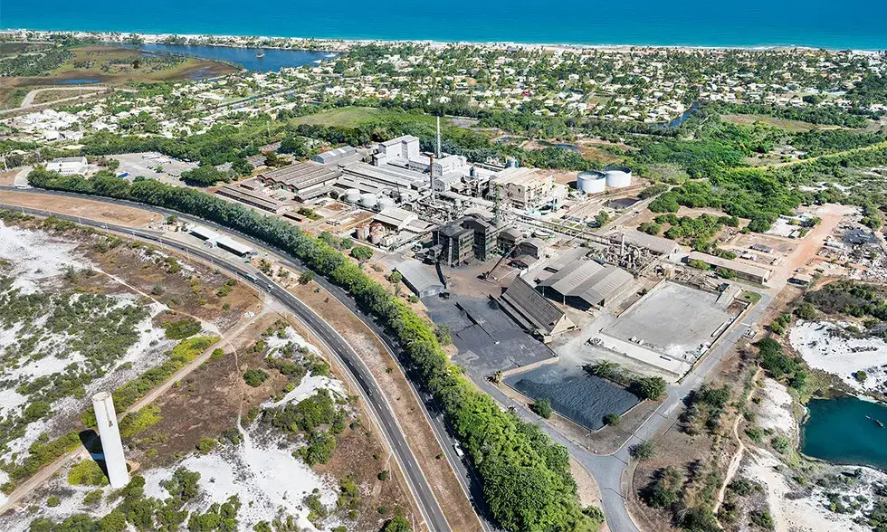
{"type": "Polygon", "coordinates": [[[579,367],[539,366],[509,375],[504,382],[533,400],[548,399],[555,412],[592,431],[604,426],[606,414],[625,413],[641,402],[625,388],[579,367]]]}

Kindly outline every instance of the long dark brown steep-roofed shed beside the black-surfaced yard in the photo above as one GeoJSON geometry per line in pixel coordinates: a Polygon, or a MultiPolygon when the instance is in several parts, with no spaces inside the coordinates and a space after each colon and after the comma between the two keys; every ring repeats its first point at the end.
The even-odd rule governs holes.
{"type": "Polygon", "coordinates": [[[545,299],[521,277],[511,281],[508,290],[499,298],[499,304],[521,327],[538,333],[543,338],[576,328],[576,324],[567,318],[563,310],[545,299]]]}

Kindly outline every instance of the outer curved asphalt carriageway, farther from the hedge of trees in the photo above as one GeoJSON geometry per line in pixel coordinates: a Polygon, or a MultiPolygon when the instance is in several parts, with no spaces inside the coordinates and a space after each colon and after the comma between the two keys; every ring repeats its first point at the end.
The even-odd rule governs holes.
{"type": "MultiPolygon", "coordinates": [[[[425,481],[422,470],[419,468],[419,464],[415,461],[412,451],[409,450],[403,432],[401,432],[397,426],[396,418],[391,412],[390,405],[387,404],[385,395],[382,394],[381,390],[378,388],[378,385],[375,379],[373,379],[372,374],[370,374],[367,366],[364,365],[354,349],[348,345],[348,342],[346,342],[335,329],[331,328],[326,321],[321,319],[299,299],[292,296],[290,292],[282,289],[276,282],[274,282],[274,280],[252,267],[245,267],[244,264],[224,261],[203,248],[191,246],[184,242],[164,239],[157,232],[145,231],[112,223],[101,223],[89,219],[83,219],[78,216],[72,216],[70,214],[58,214],[28,207],[0,204],[0,208],[41,216],[54,215],[57,218],[70,220],[83,225],[91,225],[93,227],[117,233],[131,234],[145,240],[160,242],[167,247],[175,248],[181,252],[188,252],[204,261],[209,261],[227,271],[231,271],[235,275],[243,278],[243,280],[252,282],[259,290],[268,293],[272,298],[281,301],[287,309],[291,310],[293,314],[300,318],[300,320],[305,323],[305,325],[310,328],[327,347],[329,347],[330,353],[339,358],[339,361],[343,366],[348,368],[348,372],[354,378],[355,382],[358,383],[360,391],[365,395],[364,398],[367,400],[367,404],[370,405],[377,416],[379,426],[382,428],[382,432],[384,432],[389,446],[397,455],[397,459],[404,470],[406,482],[411,491],[413,491],[425,523],[435,532],[445,532],[450,530],[446,518],[444,517],[444,512],[441,510],[437,499],[434,498],[434,493],[425,481]]],[[[181,217],[181,214],[179,214],[179,216],[181,217]]]]}

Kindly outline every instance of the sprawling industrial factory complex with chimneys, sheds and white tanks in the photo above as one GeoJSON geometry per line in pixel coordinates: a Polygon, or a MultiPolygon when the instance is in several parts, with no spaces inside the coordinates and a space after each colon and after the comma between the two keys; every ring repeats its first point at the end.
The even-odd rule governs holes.
{"type": "MultiPolygon", "coordinates": [[[[580,338],[584,351],[677,378],[747,306],[736,281],[763,285],[770,270],[626,226],[643,208],[646,185],[625,166],[565,179],[515,161],[478,164],[423,150],[406,135],[337,147],[216,194],[377,248],[420,299],[452,298],[468,309],[461,294],[485,295],[511,327],[555,352],[580,338]],[[673,327],[649,325],[663,320],[673,327]]],[[[250,252],[201,231],[209,245],[250,252]]]]}

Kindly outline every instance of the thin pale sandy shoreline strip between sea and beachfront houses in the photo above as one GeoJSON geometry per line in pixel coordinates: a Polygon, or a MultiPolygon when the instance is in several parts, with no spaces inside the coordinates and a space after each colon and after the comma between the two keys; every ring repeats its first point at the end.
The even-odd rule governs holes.
{"type": "MultiPolygon", "coordinates": [[[[813,46],[808,44],[758,44],[758,45],[736,45],[736,46],[709,46],[696,44],[632,44],[632,43],[523,43],[520,41],[440,41],[428,39],[348,39],[348,38],[320,38],[320,37],[304,37],[304,36],[269,36],[269,35],[234,35],[234,34],[215,34],[215,33],[141,33],[141,32],[112,32],[98,30],[35,30],[29,28],[0,28],[0,38],[5,35],[19,35],[25,33],[39,34],[66,34],[74,36],[94,36],[100,40],[109,42],[114,41],[112,37],[121,39],[124,36],[137,35],[144,39],[145,43],[164,43],[169,37],[178,37],[186,40],[199,40],[202,46],[219,46],[230,48],[266,48],[293,50],[295,48],[274,45],[272,42],[282,42],[289,44],[310,43],[312,45],[322,45],[329,43],[327,48],[314,48],[312,50],[344,52],[350,47],[356,45],[367,44],[424,44],[432,48],[446,48],[449,46],[477,46],[489,47],[493,49],[520,48],[523,51],[539,51],[539,52],[582,52],[582,51],[603,51],[603,52],[644,52],[658,50],[672,50],[679,52],[726,52],[731,50],[741,50],[748,52],[767,52],[767,51],[816,51],[826,50],[829,52],[850,51],[855,53],[865,53],[878,55],[887,52],[884,49],[865,49],[865,48],[830,48],[825,46],[813,46]],[[225,40],[224,43],[218,43],[215,40],[225,40]],[[253,42],[261,42],[262,44],[250,44],[253,42]],[[249,43],[247,43],[249,42],[249,43]]],[[[2,42],[2,41],[0,41],[2,42]]],[[[187,45],[188,43],[181,43],[187,45]]],[[[304,49],[304,48],[301,48],[304,49]]]]}

